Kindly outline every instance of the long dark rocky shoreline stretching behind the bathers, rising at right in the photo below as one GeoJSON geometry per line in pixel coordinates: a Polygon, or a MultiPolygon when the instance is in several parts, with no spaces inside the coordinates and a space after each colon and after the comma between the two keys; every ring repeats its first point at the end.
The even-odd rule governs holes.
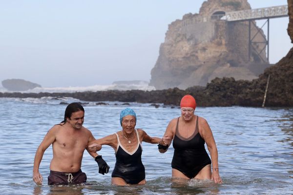
{"type": "Polygon", "coordinates": [[[267,68],[252,81],[234,78],[215,78],[206,87],[194,86],[186,90],[178,88],[142,91],[98,91],[76,93],[0,93],[0,98],[72,97],[81,101],[121,101],[139,103],[164,103],[179,106],[180,99],[190,94],[198,106],[252,106],[261,107],[268,77],[267,107],[293,107],[293,48],[275,65],[267,68]]]}

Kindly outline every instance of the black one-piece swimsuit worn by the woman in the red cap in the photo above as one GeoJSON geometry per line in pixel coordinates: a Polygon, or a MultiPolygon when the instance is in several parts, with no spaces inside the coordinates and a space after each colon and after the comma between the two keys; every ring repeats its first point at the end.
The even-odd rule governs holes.
{"type": "Polygon", "coordinates": [[[177,169],[188,178],[195,177],[202,168],[211,164],[209,155],[205,149],[205,140],[198,132],[198,117],[192,136],[181,137],[178,130],[179,118],[176,125],[176,134],[173,140],[174,155],[172,168],[177,169]]]}

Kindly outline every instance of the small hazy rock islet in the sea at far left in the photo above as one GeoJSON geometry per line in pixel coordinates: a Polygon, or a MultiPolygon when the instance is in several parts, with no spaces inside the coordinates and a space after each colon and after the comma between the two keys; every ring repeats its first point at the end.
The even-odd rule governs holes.
{"type": "Polygon", "coordinates": [[[2,80],[2,86],[9,91],[27,91],[36,87],[41,87],[37,83],[26,81],[23,79],[6,79],[2,80]]]}

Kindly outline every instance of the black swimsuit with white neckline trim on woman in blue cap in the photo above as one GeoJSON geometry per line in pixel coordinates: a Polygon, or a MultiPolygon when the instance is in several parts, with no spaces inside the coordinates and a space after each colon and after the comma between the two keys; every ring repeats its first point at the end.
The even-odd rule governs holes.
{"type": "Polygon", "coordinates": [[[128,184],[138,184],[146,178],[145,167],[142,163],[142,146],[139,141],[137,130],[137,149],[129,153],[121,145],[118,135],[118,150],[116,151],[116,164],[112,172],[112,177],[120,177],[128,184]]]}

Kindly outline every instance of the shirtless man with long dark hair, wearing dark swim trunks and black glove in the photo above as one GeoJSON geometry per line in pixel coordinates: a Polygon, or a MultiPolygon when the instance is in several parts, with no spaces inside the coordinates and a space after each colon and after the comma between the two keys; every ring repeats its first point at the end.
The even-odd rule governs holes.
{"type": "MultiPolygon", "coordinates": [[[[53,158],[50,163],[48,185],[81,184],[86,182],[82,172],[82,159],[88,142],[95,140],[92,133],[84,128],[84,108],[78,102],[70,103],[64,113],[64,120],[54,125],[43,138],[35,155],[33,180],[42,185],[42,175],[39,172],[40,163],[45,150],[52,144],[53,158]]],[[[99,146],[99,150],[102,146],[99,146]]],[[[105,174],[109,166],[102,156],[88,151],[99,165],[99,173],[105,174]]]]}

